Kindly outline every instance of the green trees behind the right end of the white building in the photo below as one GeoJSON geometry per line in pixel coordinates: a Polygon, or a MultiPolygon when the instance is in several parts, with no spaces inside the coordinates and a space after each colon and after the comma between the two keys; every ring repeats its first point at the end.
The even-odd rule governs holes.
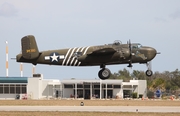
{"type": "Polygon", "coordinates": [[[132,78],[138,80],[147,80],[148,90],[154,92],[157,89],[161,91],[172,91],[180,89],[180,71],[156,71],[152,77],[147,77],[144,71],[133,70],[132,74],[127,69],[119,70],[118,72],[111,75],[110,79],[122,79],[123,81],[129,81],[132,78]]]}

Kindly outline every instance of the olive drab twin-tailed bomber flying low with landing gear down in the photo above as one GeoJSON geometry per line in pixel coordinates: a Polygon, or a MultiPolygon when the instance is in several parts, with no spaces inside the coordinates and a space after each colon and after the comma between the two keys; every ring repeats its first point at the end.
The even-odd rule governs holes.
{"type": "Polygon", "coordinates": [[[17,62],[25,62],[61,66],[100,66],[98,76],[108,79],[110,70],[106,65],[133,63],[147,64],[146,75],[153,74],[150,61],[156,56],[157,51],[152,47],[142,46],[139,43],[127,44],[115,41],[112,44],[74,47],[67,49],[48,50],[40,52],[33,35],[21,39],[22,53],[16,56],[17,62]]]}

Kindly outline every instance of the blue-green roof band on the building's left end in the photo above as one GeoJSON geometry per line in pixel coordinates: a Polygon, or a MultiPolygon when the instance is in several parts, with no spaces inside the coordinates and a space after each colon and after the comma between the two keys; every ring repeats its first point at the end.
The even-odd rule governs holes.
{"type": "Polygon", "coordinates": [[[28,83],[27,77],[0,77],[0,83],[28,83]]]}

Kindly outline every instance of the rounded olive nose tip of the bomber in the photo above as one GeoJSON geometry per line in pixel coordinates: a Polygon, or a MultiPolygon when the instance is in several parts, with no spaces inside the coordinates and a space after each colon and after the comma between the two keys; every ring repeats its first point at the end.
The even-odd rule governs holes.
{"type": "Polygon", "coordinates": [[[156,49],[152,48],[152,47],[147,47],[147,60],[151,61],[157,54],[156,49]]]}

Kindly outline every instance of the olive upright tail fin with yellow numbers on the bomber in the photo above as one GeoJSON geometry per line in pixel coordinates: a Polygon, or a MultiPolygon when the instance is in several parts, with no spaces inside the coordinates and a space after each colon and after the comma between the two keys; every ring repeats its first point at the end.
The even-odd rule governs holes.
{"type": "Polygon", "coordinates": [[[39,50],[33,35],[25,36],[21,39],[22,56],[25,59],[32,60],[39,56],[39,50]]]}

